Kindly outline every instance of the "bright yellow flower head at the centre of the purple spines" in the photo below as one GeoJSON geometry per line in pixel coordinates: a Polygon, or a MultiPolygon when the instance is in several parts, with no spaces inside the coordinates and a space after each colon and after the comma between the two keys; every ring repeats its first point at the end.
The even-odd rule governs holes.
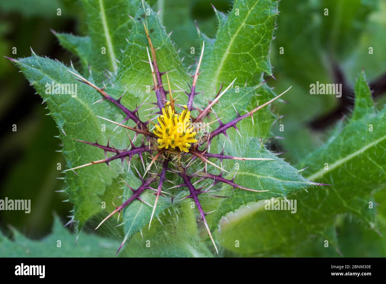
{"type": "Polygon", "coordinates": [[[190,121],[190,111],[186,105],[184,107],[181,114],[175,114],[169,103],[162,109],[162,114],[158,117],[159,124],[153,131],[159,137],[157,139],[159,148],[178,147],[179,150],[188,152],[190,143],[197,142],[190,121]]]}

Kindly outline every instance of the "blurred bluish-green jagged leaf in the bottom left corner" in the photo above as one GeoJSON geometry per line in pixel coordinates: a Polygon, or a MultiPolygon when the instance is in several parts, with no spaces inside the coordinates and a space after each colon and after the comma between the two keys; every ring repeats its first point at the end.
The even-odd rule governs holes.
{"type": "Polygon", "coordinates": [[[51,234],[42,240],[30,240],[12,231],[13,241],[0,232],[0,257],[113,257],[119,246],[118,241],[91,234],[82,234],[76,241],[76,235],[64,228],[58,217],[51,234]]]}

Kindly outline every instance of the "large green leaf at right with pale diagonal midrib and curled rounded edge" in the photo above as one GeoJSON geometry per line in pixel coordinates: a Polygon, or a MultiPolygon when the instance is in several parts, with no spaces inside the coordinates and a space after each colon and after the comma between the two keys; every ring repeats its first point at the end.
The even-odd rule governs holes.
{"type": "MultiPolygon", "coordinates": [[[[297,165],[308,166],[304,171],[308,179],[331,185],[287,197],[297,200],[296,214],[264,211],[256,206],[249,213],[243,210],[242,218],[234,218],[222,230],[227,248],[234,250],[227,236],[236,230],[232,236],[243,246],[234,251],[241,254],[293,255],[306,241],[323,247],[325,240],[330,243],[326,250],[339,251],[334,226],[340,214],[350,214],[361,226],[377,230],[376,211],[369,202],[374,201],[373,192],[386,187],[386,109],[378,112],[374,108],[364,72],[357,79],[355,91],[351,119],[345,125],[340,123],[323,146],[297,165]],[[252,235],[257,231],[256,243],[252,235]]],[[[309,251],[305,253],[303,256],[311,256],[309,251]]]]}

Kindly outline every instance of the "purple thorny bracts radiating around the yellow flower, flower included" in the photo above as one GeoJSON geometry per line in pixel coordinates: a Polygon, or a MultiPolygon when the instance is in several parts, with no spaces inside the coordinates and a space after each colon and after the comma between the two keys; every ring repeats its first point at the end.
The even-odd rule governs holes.
{"type": "MultiPolygon", "coordinates": [[[[171,90],[168,72],[159,71],[159,67],[156,59],[156,49],[154,49],[153,47],[151,38],[149,36],[149,33],[147,32],[147,28],[145,24],[144,26],[145,26],[146,36],[147,36],[149,49],[150,49],[150,52],[149,52],[149,49],[147,49],[147,57],[149,60],[148,63],[150,65],[150,70],[151,70],[152,78],[154,82],[154,85],[152,86],[153,87],[152,90],[155,92],[156,99],[157,99],[156,102],[153,102],[151,104],[155,105],[155,107],[153,107],[152,109],[156,109],[156,112],[154,112],[153,115],[156,115],[158,123],[155,124],[154,122],[152,122],[152,120],[149,120],[149,119],[147,119],[147,121],[143,121],[140,119],[138,110],[142,105],[140,105],[134,110],[129,110],[124,105],[121,104],[120,101],[122,97],[120,97],[118,100],[113,99],[113,97],[111,97],[105,92],[104,87],[99,88],[93,83],[86,80],[85,78],[69,70],[69,72],[71,72],[73,75],[78,77],[78,80],[94,88],[95,90],[97,90],[98,93],[102,95],[102,99],[97,102],[107,100],[111,104],[115,105],[120,111],[124,112],[124,115],[125,115],[124,120],[121,122],[112,121],[110,119],[103,118],[103,117],[100,117],[100,118],[105,119],[106,121],[111,122],[113,124],[116,124],[117,127],[126,128],[128,131],[134,132],[135,138],[141,135],[142,143],[139,146],[135,146],[133,141],[130,139],[130,135],[128,137],[129,146],[126,149],[117,149],[112,145],[110,145],[110,143],[107,143],[106,146],[103,146],[98,144],[97,142],[93,143],[88,141],[77,140],[82,143],[86,143],[88,145],[101,148],[105,152],[105,158],[87,163],[85,165],[79,165],[77,167],[68,169],[66,171],[76,170],[78,168],[87,167],[98,163],[106,163],[107,165],[109,165],[109,163],[112,162],[113,160],[121,160],[122,170],[124,170],[124,163],[126,161],[129,165],[128,168],[130,170],[130,163],[134,155],[139,155],[139,158],[141,159],[141,162],[143,165],[144,165],[143,156],[149,155],[151,157],[151,163],[147,166],[144,175],[141,176],[140,173],[137,171],[139,178],[141,179],[141,185],[136,189],[134,189],[130,187],[129,184],[126,184],[130,188],[130,190],[132,190],[132,195],[130,196],[129,199],[124,201],[120,206],[116,207],[116,209],[112,211],[112,213],[110,213],[105,219],[103,219],[103,221],[97,226],[97,228],[99,228],[99,226],[101,226],[103,222],[105,222],[108,218],[113,216],[115,213],[120,213],[126,206],[128,206],[134,200],[145,202],[144,200],[141,199],[141,194],[145,190],[152,190],[156,195],[154,205],[151,205],[145,202],[153,208],[151,218],[149,220],[149,228],[150,228],[151,220],[155,214],[159,196],[163,196],[163,193],[164,193],[163,184],[166,181],[166,173],[172,172],[178,175],[183,181],[181,184],[175,185],[172,188],[179,189],[179,188],[186,187],[189,190],[189,194],[183,197],[182,199],[186,199],[186,198],[193,199],[193,201],[195,202],[198,208],[198,212],[200,214],[200,220],[203,221],[203,224],[205,225],[205,228],[210,237],[210,240],[212,241],[216,249],[216,252],[218,253],[217,247],[212,237],[212,233],[209,229],[209,226],[206,220],[206,216],[208,213],[205,213],[203,211],[203,208],[200,204],[200,200],[198,196],[200,194],[205,193],[205,194],[210,194],[213,197],[226,197],[226,196],[215,196],[212,194],[213,190],[208,190],[213,185],[218,183],[229,185],[230,187],[236,190],[247,190],[252,192],[268,191],[268,190],[256,190],[256,189],[247,188],[247,187],[238,185],[234,181],[235,176],[230,180],[224,178],[222,174],[223,172],[227,172],[227,171],[223,169],[222,161],[223,159],[243,160],[243,161],[244,160],[273,160],[273,159],[229,156],[224,154],[224,148],[222,149],[221,153],[210,153],[209,151],[210,143],[212,139],[218,136],[219,134],[224,134],[226,137],[228,137],[227,129],[229,128],[235,128],[238,131],[237,129],[238,122],[242,121],[247,117],[252,117],[252,115],[255,112],[271,104],[271,102],[281,97],[281,95],[283,95],[288,90],[274,97],[268,102],[257,106],[255,109],[247,112],[244,115],[240,115],[235,109],[237,114],[236,118],[225,124],[221,121],[221,119],[217,117],[215,113],[214,115],[216,116],[216,119],[214,121],[204,122],[205,120],[210,118],[210,113],[213,112],[213,106],[217,104],[220,101],[223,94],[225,94],[229,90],[229,88],[232,87],[236,78],[227,87],[223,88],[222,86],[220,88],[220,91],[217,93],[217,96],[212,101],[209,101],[208,105],[205,108],[201,110],[198,107],[195,107],[195,108],[193,107],[195,96],[197,94],[200,94],[196,92],[196,84],[198,82],[197,80],[198,76],[200,75],[200,66],[201,66],[201,61],[203,58],[203,53],[205,48],[205,44],[203,43],[200,59],[197,63],[196,70],[192,75],[193,82],[191,83],[191,86],[190,86],[190,92],[184,91],[185,94],[187,95],[187,103],[186,105],[175,104],[176,100],[173,99],[173,95],[172,95],[173,90],[171,90]],[[168,83],[168,91],[166,91],[163,87],[164,85],[163,85],[162,78],[164,75],[166,75],[166,79],[168,83]],[[169,95],[169,100],[167,100],[168,95],[169,95]],[[178,109],[181,109],[181,111],[178,111],[178,109]],[[198,112],[198,115],[194,116],[192,112],[198,112]],[[135,123],[134,127],[125,125],[125,122],[129,120],[135,123]],[[198,131],[202,130],[206,126],[216,121],[219,124],[218,128],[212,131],[209,131],[206,136],[203,136],[203,137],[198,136],[197,134],[198,131]],[[200,126],[196,127],[195,124],[198,124],[198,123],[200,123],[200,126]],[[153,125],[152,129],[149,129],[150,124],[153,125]],[[107,156],[108,152],[113,153],[113,155],[108,157],[107,156]],[[217,165],[216,163],[211,162],[209,160],[210,158],[215,158],[218,161],[220,161],[220,165],[217,165]],[[196,160],[201,160],[205,164],[205,170],[202,169],[193,174],[189,174],[187,170],[196,160]],[[158,167],[159,164],[157,164],[157,168],[151,172],[150,169],[155,163],[159,163],[161,167],[158,167]],[[209,173],[207,171],[207,164],[210,164],[213,167],[220,169],[220,174],[209,173]],[[146,173],[148,172],[149,174],[146,175],[146,173]],[[198,179],[198,181],[192,182],[191,180],[193,178],[198,179]],[[202,180],[212,180],[212,184],[206,188],[205,186],[196,188],[196,184],[202,180]],[[151,186],[151,184],[155,182],[157,182],[158,185],[154,188],[151,186]]],[[[264,81],[263,83],[265,82],[266,81],[264,81]]],[[[120,248],[124,245],[124,242],[122,243],[120,248]]]]}

